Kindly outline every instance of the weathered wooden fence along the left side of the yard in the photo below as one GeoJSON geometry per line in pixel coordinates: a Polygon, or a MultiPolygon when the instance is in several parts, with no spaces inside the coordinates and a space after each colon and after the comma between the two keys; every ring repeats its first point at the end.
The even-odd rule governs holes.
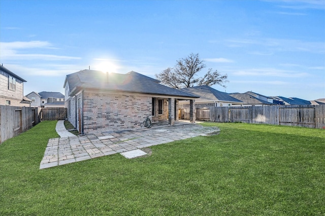
{"type": "Polygon", "coordinates": [[[0,105],[0,143],[38,123],[37,107],[0,105]]]}

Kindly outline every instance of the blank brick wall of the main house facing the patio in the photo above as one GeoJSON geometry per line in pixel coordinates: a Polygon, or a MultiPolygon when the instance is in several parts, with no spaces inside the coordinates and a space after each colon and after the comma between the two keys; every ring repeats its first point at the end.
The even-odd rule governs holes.
{"type": "Polygon", "coordinates": [[[84,133],[144,128],[151,118],[152,97],[84,92],[83,98],[84,133]]]}

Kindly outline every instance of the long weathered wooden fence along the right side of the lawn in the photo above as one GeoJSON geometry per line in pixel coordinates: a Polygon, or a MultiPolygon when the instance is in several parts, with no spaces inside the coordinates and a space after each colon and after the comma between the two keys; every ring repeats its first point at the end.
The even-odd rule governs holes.
{"type": "Polygon", "coordinates": [[[208,107],[197,109],[197,120],[322,128],[325,105],[208,107]]]}

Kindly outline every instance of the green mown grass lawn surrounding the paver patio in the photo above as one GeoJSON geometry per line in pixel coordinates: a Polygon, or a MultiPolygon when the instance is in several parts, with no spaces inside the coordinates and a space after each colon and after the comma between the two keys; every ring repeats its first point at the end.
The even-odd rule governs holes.
{"type": "Polygon", "coordinates": [[[325,215],[325,130],[216,124],[219,135],[40,170],[56,121],[0,145],[0,215],[325,215]]]}

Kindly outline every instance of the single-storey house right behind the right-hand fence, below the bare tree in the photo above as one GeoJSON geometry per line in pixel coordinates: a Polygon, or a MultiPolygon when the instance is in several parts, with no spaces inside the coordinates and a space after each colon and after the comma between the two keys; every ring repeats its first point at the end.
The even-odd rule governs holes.
{"type": "MultiPolygon", "coordinates": [[[[240,106],[243,104],[243,101],[206,85],[184,88],[180,90],[199,97],[195,100],[197,108],[211,106],[240,106]]],[[[180,101],[179,104],[186,107],[189,102],[180,101]]]]}

